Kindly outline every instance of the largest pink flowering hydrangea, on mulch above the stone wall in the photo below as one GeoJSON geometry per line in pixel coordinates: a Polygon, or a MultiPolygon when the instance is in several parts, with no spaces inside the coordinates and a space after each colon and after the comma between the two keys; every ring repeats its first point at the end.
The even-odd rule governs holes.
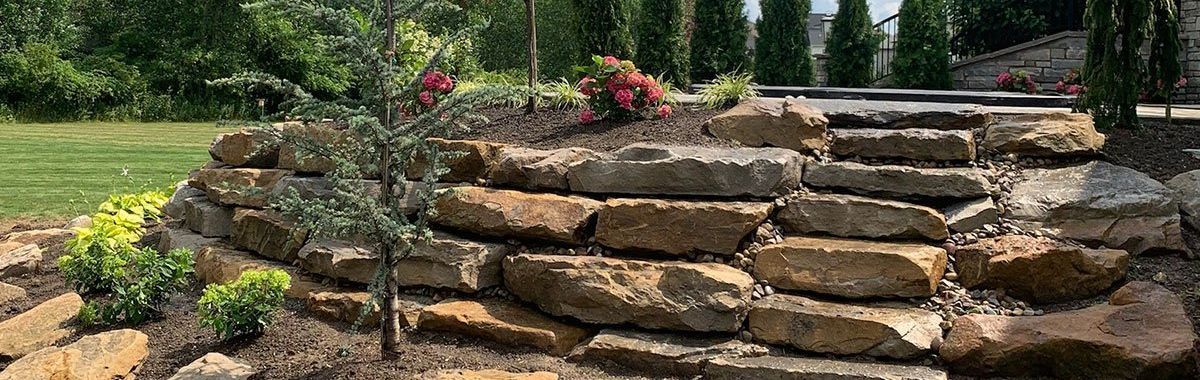
{"type": "Polygon", "coordinates": [[[581,74],[580,92],[588,97],[580,122],[599,119],[632,119],[671,116],[666,92],[654,77],[642,74],[631,61],[614,56],[592,56],[590,66],[575,68],[581,74]]]}

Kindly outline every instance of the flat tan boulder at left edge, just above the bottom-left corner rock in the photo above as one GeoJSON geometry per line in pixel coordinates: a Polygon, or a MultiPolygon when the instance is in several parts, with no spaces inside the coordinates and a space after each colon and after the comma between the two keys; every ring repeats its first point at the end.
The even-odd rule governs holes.
{"type": "Polygon", "coordinates": [[[68,292],[0,321],[0,358],[18,358],[74,333],[83,298],[68,292]]]}

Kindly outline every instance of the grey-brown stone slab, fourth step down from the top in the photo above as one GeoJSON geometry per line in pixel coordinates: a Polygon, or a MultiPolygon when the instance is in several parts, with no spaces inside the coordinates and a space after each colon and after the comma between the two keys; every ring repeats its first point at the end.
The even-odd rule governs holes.
{"type": "Polygon", "coordinates": [[[788,233],[842,237],[946,240],[937,210],[895,200],[842,194],[803,194],[787,199],[775,221],[788,233]]]}

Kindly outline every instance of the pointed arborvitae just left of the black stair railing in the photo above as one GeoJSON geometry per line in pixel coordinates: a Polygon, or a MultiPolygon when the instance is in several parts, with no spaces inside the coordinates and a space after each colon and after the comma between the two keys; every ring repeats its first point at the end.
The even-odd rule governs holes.
{"type": "Polygon", "coordinates": [[[880,34],[871,24],[871,12],[866,0],[838,1],[838,16],[833,19],[829,40],[826,42],[826,73],[828,85],[835,88],[865,88],[875,77],[875,55],[880,52],[880,34]]]}

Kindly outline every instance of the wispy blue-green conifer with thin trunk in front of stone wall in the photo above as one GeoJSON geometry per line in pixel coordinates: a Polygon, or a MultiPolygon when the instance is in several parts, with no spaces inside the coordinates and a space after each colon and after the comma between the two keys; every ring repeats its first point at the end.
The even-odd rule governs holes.
{"type": "MultiPolygon", "coordinates": [[[[426,59],[424,67],[413,70],[397,65],[396,20],[420,19],[421,14],[395,14],[394,10],[434,11],[449,6],[433,0],[359,1],[356,6],[341,7],[324,0],[263,0],[247,5],[252,11],[266,12],[289,19],[307,19],[317,28],[322,41],[330,43],[353,76],[353,88],[334,101],[323,101],[288,80],[263,73],[245,73],[216,80],[217,85],[245,88],[258,94],[277,92],[284,103],[286,115],[317,122],[332,119],[343,129],[306,134],[304,131],[281,131],[264,126],[258,129],[296,147],[300,159],[330,159],[335,169],[325,174],[328,197],[301,197],[292,188],[271,198],[271,206],[294,219],[313,239],[354,241],[379,255],[379,265],[370,285],[371,301],[364,304],[359,321],[376,304],[380,307],[380,350],[394,357],[400,344],[398,279],[396,265],[433,233],[428,227],[431,204],[438,197],[432,189],[440,175],[449,171],[446,158],[458,152],[440,151],[428,140],[449,137],[451,131],[464,128],[468,122],[481,120],[478,108],[499,102],[521,102],[529,90],[509,86],[482,85],[463,91],[439,95],[437,102],[418,107],[416,94],[426,90],[422,78],[432,72],[445,53],[445,46],[462,41],[479,30],[464,26],[449,36],[442,50],[426,59]],[[325,138],[322,138],[322,137],[325,138]],[[418,211],[410,212],[394,194],[404,194],[403,179],[414,162],[421,162],[418,187],[418,211]],[[364,174],[377,174],[378,181],[367,181],[364,174]],[[397,181],[400,179],[400,181],[397,181]]],[[[415,12],[415,11],[414,11],[415,12]]],[[[437,78],[437,77],[436,77],[437,78]]],[[[449,80],[448,77],[440,77],[449,80]]],[[[374,176],[372,176],[374,177],[374,176]]]]}

